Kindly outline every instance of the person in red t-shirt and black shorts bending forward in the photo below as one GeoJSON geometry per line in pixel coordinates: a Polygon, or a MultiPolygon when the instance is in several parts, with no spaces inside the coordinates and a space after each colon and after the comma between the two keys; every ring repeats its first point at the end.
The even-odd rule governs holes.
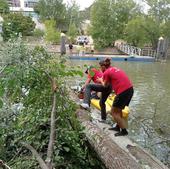
{"type": "Polygon", "coordinates": [[[107,69],[103,73],[103,78],[99,81],[104,86],[111,84],[112,90],[116,94],[112,105],[111,114],[117,125],[116,127],[112,128],[112,130],[118,131],[115,136],[128,135],[126,124],[122,117],[122,110],[125,108],[125,106],[128,106],[131,101],[134,92],[133,85],[123,70],[110,66],[109,62],[106,62],[105,66],[107,69]]]}

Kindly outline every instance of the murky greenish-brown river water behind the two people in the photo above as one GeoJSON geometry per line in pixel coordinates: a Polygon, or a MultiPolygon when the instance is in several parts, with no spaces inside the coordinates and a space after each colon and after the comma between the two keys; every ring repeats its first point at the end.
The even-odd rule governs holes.
{"type": "MultiPolygon", "coordinates": [[[[97,61],[70,62],[82,70],[84,64],[98,65],[97,61]]],[[[129,137],[170,167],[170,62],[113,62],[112,65],[123,69],[134,85],[129,137]]]]}

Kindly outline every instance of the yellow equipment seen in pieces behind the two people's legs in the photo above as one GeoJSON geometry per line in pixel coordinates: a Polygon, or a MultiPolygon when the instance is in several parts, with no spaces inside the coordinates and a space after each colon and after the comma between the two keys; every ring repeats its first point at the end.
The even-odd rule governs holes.
{"type": "MultiPolygon", "coordinates": [[[[110,113],[111,112],[111,107],[112,107],[112,104],[113,104],[113,101],[114,101],[114,98],[115,98],[116,95],[110,95],[105,104],[106,104],[106,112],[107,113],[110,113]]],[[[100,110],[100,105],[99,105],[99,99],[91,99],[91,105],[93,105],[94,107],[96,107],[98,110],[100,110]]],[[[126,106],[123,110],[122,110],[122,115],[123,115],[123,118],[128,118],[128,115],[129,115],[129,107],[126,106]]]]}

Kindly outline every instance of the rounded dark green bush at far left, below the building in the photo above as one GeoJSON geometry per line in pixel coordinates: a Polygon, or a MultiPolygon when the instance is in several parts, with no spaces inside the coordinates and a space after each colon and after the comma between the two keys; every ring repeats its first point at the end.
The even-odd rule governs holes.
{"type": "Polygon", "coordinates": [[[11,37],[18,37],[19,34],[32,35],[34,28],[35,23],[31,17],[23,16],[21,13],[10,13],[4,16],[2,36],[4,40],[8,40],[11,37]]]}

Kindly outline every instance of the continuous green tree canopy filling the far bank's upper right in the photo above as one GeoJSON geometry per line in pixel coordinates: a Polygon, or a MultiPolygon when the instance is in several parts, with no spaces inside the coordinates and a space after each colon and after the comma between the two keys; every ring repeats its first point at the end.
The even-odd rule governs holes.
{"type": "Polygon", "coordinates": [[[156,49],[160,36],[170,37],[167,29],[170,0],[146,0],[145,3],[148,11],[133,0],[96,0],[90,15],[90,33],[95,45],[106,47],[117,39],[126,39],[135,46],[149,43],[156,49]]]}

